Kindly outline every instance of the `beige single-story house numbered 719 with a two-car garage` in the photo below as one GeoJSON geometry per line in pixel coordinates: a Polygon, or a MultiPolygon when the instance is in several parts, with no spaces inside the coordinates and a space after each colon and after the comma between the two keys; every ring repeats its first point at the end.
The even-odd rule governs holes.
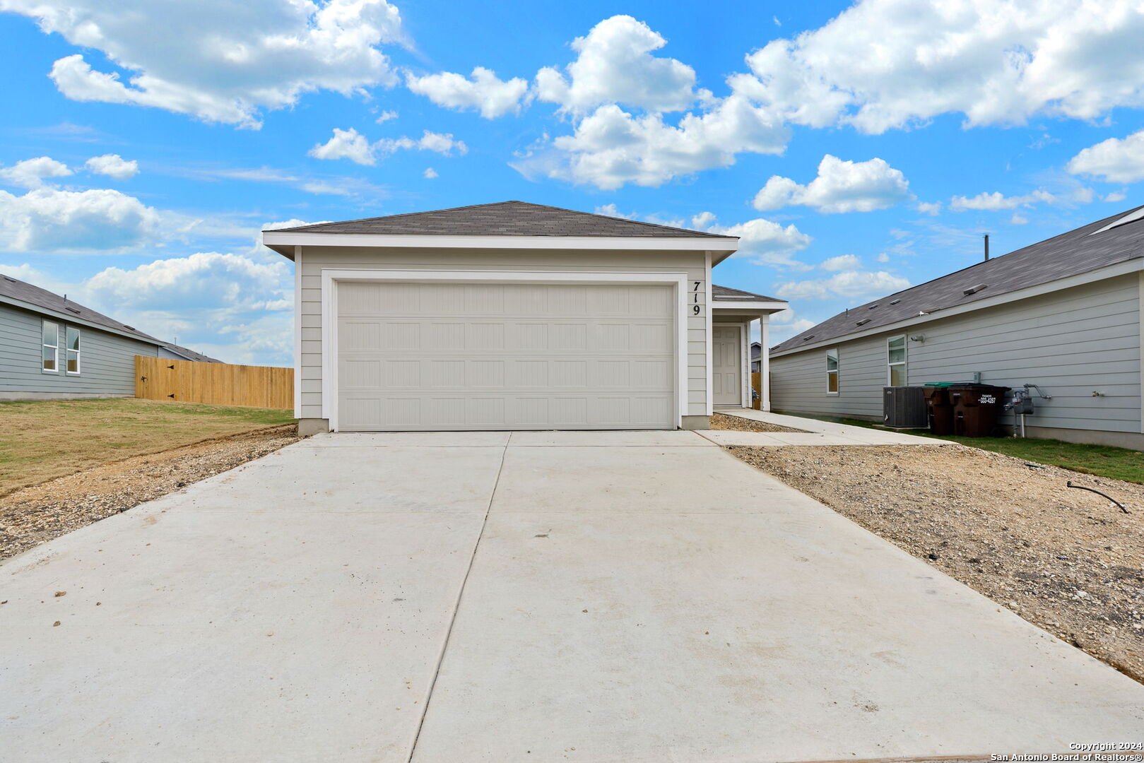
{"type": "Polygon", "coordinates": [[[523,201],[263,244],[295,264],[303,432],[706,428],[787,307],[713,287],[734,237],[523,201]]]}

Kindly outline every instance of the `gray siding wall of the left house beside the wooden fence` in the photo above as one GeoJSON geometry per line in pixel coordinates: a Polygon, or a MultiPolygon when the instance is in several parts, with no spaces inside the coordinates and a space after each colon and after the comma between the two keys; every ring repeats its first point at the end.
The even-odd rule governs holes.
{"type": "MultiPolygon", "coordinates": [[[[0,392],[73,395],[135,395],[135,356],[154,357],[157,347],[88,326],[47,318],[30,310],[0,304],[0,392]],[[41,373],[41,321],[79,328],[80,373],[41,373]]],[[[59,350],[59,364],[65,353],[59,350]]]]}

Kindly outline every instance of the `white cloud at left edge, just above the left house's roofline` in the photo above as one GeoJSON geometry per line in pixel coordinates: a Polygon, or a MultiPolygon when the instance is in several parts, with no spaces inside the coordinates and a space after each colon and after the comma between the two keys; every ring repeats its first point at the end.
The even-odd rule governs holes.
{"type": "Polygon", "coordinates": [[[161,240],[160,214],[110,189],[0,191],[0,247],[8,252],[116,252],[161,240]]]}

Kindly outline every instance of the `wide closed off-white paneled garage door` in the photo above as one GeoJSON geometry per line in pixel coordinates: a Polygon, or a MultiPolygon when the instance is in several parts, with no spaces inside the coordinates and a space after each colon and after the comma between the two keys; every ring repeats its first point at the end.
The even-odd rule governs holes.
{"type": "Polygon", "coordinates": [[[669,286],[337,286],[337,428],[674,429],[669,286]]]}

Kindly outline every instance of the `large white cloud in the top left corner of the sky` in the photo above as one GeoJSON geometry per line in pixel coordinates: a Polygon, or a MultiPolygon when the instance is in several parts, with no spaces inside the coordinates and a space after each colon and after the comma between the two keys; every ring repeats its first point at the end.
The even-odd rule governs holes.
{"type": "Polygon", "coordinates": [[[397,82],[379,47],[404,43],[400,14],[386,0],[2,0],[46,33],[102,51],[126,72],[93,70],[73,54],[51,79],[66,97],[154,106],[216,122],[259,127],[261,112],[315,90],[343,95],[397,82]]]}

